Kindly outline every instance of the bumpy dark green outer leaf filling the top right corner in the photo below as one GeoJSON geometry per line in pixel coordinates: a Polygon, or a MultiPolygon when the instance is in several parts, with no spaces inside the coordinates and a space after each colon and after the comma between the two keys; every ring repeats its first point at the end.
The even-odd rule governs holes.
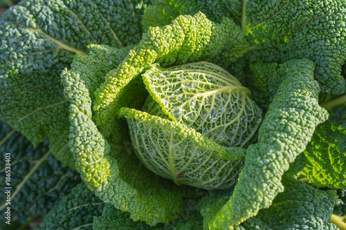
{"type": "Polygon", "coordinates": [[[256,46],[251,59],[288,61],[308,58],[316,63],[322,92],[345,93],[341,67],[346,60],[346,5],[336,1],[247,1],[247,30],[256,46]]]}

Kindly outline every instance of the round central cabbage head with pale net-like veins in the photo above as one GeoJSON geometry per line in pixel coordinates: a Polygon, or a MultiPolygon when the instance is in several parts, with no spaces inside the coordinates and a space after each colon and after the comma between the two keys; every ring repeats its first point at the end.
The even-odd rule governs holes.
{"type": "Polygon", "coordinates": [[[226,70],[202,61],[170,68],[153,64],[143,82],[142,111],[122,108],[131,142],[154,173],[203,189],[237,181],[262,114],[251,92],[226,70]],[[153,100],[154,99],[154,100],[153,100]]]}

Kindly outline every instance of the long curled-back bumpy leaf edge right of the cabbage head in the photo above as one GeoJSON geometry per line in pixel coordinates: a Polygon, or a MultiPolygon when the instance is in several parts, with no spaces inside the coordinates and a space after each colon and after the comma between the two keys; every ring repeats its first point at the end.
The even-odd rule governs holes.
{"type": "Polygon", "coordinates": [[[319,86],[313,79],[313,62],[298,59],[282,66],[291,71],[287,71],[269,106],[257,144],[247,149],[235,192],[210,223],[210,229],[233,227],[269,207],[284,189],[284,171],[304,151],[315,127],[328,117],[318,105],[319,86]]]}

